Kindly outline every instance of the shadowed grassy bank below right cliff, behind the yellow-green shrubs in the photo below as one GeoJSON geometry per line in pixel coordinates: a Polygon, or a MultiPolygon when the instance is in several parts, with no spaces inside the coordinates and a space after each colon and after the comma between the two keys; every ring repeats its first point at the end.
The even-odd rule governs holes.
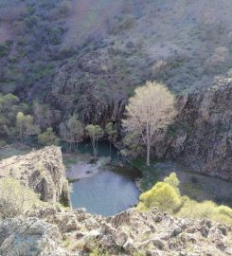
{"type": "Polygon", "coordinates": [[[137,182],[142,192],[152,189],[154,184],[162,181],[171,173],[175,173],[180,180],[180,192],[190,199],[198,202],[210,200],[232,208],[232,186],[228,181],[197,174],[187,166],[171,161],[153,160],[151,167],[146,167],[144,160],[140,158],[136,158],[130,163],[142,173],[142,177],[137,182]]]}

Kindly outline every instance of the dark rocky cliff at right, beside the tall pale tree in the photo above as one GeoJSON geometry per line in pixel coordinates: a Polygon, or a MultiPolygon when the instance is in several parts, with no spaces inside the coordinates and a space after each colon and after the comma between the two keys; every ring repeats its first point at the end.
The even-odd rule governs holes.
{"type": "Polygon", "coordinates": [[[179,116],[154,155],[182,159],[193,170],[232,181],[232,78],[217,78],[178,98],[179,116]]]}

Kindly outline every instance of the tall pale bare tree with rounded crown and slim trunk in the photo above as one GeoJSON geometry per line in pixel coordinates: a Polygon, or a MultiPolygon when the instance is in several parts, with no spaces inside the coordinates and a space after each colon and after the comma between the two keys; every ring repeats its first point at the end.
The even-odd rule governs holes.
{"type": "Polygon", "coordinates": [[[176,115],[174,96],[161,83],[146,82],[135,89],[134,97],[126,106],[126,119],[122,125],[127,133],[138,133],[147,148],[147,166],[151,165],[150,154],[154,135],[166,128],[176,115]]]}

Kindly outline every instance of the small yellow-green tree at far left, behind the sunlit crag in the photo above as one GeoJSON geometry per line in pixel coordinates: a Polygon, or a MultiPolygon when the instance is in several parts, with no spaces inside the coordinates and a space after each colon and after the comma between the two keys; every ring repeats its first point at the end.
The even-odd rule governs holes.
{"type": "Polygon", "coordinates": [[[33,117],[25,115],[23,112],[18,112],[16,116],[16,132],[21,142],[25,143],[28,137],[38,135],[40,128],[34,124],[33,117]]]}

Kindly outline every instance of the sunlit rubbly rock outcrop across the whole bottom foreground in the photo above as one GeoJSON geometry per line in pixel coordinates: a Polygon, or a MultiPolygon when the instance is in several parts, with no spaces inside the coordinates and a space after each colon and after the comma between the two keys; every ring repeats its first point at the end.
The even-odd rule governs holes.
{"type": "Polygon", "coordinates": [[[137,252],[148,256],[228,256],[232,255],[231,241],[231,227],[209,220],[176,219],[157,209],[130,209],[102,217],[81,209],[46,208],[33,216],[0,222],[2,256],[16,255],[16,251],[31,256],[89,255],[96,247],[102,256],[137,252]]]}

